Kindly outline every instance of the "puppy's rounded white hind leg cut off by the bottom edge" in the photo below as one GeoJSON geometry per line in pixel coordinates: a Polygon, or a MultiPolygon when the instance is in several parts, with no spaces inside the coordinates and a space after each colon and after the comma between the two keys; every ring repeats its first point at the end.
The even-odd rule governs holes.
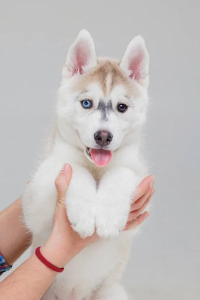
{"type": "Polygon", "coordinates": [[[96,294],[95,300],[128,300],[123,286],[119,283],[103,286],[96,294]]]}

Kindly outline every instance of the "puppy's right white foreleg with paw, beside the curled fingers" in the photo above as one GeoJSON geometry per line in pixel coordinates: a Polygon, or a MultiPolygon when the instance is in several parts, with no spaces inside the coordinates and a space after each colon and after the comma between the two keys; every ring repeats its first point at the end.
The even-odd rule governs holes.
{"type": "Polygon", "coordinates": [[[115,167],[101,178],[96,195],[96,232],[114,237],[126,224],[136,176],[128,167],[115,167]]]}

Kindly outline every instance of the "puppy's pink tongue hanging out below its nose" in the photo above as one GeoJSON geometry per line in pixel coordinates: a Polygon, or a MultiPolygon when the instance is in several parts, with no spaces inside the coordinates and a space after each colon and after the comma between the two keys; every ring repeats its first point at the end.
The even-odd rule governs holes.
{"type": "Polygon", "coordinates": [[[104,149],[90,149],[91,158],[97,166],[105,166],[112,157],[111,151],[104,149]]]}

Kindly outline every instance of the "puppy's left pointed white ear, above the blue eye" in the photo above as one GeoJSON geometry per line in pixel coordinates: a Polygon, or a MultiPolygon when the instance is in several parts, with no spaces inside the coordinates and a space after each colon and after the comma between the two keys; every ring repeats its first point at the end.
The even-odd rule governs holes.
{"type": "Polygon", "coordinates": [[[62,76],[71,77],[74,74],[82,74],[96,64],[93,39],[87,30],[82,29],[68,49],[62,76]]]}

